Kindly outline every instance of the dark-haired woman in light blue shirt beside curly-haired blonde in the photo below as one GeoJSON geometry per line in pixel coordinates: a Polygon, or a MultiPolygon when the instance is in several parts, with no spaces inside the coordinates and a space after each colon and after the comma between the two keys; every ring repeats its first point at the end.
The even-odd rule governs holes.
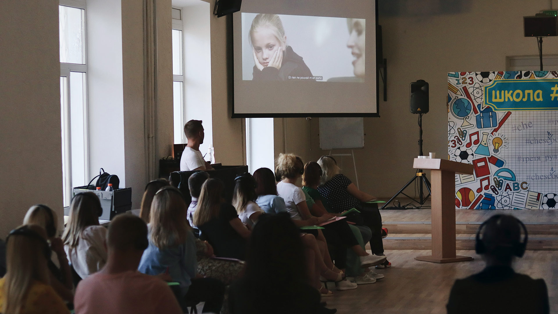
{"type": "Polygon", "coordinates": [[[275,174],[269,168],[254,171],[256,180],[256,203],[266,213],[287,212],[285,200],[277,194],[275,174]]]}

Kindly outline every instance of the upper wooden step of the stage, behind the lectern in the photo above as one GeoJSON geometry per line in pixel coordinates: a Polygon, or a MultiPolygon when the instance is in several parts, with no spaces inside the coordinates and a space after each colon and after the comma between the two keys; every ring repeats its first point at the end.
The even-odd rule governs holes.
{"type": "MultiPolygon", "coordinates": [[[[476,234],[482,222],[458,221],[455,231],[458,234],[476,234]]],[[[429,234],[432,232],[430,221],[385,221],[384,228],[389,234],[429,234]]],[[[558,222],[525,222],[527,231],[531,235],[558,235],[558,222]]]]}

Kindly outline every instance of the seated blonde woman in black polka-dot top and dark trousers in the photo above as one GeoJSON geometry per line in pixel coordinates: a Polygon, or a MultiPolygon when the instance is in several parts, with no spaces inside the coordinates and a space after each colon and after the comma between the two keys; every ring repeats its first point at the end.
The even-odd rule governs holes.
{"type": "MultiPolygon", "coordinates": [[[[370,239],[372,253],[384,256],[382,237],[386,230],[382,230],[382,216],[376,204],[365,203],[376,199],[376,197],[360,191],[349,178],[340,174],[341,169],[333,157],[321,156],[318,164],[323,170],[320,186],[318,187],[320,195],[327,199],[329,206],[338,213],[357,208],[360,211],[363,224],[372,230],[370,239]]],[[[391,267],[391,263],[387,259],[376,266],[376,268],[388,267],[391,267]]]]}

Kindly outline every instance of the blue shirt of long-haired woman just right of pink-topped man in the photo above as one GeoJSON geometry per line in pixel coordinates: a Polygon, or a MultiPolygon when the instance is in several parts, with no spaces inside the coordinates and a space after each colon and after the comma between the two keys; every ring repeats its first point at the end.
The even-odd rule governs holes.
{"type": "Polygon", "coordinates": [[[167,268],[172,280],[180,283],[182,296],[185,296],[192,283],[191,278],[195,278],[198,269],[196,242],[192,232],[188,232],[184,243],[163,250],[149,241],[149,246],[143,251],[138,270],[144,274],[158,275],[165,273],[167,268]]]}

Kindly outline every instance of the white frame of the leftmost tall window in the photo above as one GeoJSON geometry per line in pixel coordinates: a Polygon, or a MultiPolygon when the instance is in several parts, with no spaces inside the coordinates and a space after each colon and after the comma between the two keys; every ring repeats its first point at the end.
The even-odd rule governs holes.
{"type": "MultiPolygon", "coordinates": [[[[63,63],[60,62],[60,77],[65,77],[65,108],[60,104],[60,115],[61,121],[64,122],[64,127],[61,130],[61,150],[62,150],[62,183],[65,191],[62,194],[64,207],[70,206],[71,196],[73,196],[73,166],[72,166],[72,156],[71,156],[71,84],[70,75],[71,72],[85,73],[85,83],[84,83],[84,102],[83,102],[83,143],[84,143],[84,164],[83,164],[83,175],[85,183],[87,184],[89,180],[89,115],[88,115],[88,84],[87,84],[87,21],[86,21],[86,3],[85,0],[60,0],[59,6],[74,7],[84,10],[83,16],[83,62],[84,64],[75,63],[63,63]]],[[[62,82],[60,82],[62,83],[62,82]]],[[[62,91],[62,87],[61,87],[62,91]]],[[[62,101],[62,97],[61,97],[62,101]]],[[[62,126],[61,126],[62,127],[62,126]]]]}

